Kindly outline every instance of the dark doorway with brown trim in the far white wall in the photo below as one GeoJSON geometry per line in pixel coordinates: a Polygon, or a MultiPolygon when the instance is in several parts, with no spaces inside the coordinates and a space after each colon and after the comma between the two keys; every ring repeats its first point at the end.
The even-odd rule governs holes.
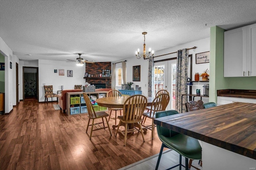
{"type": "Polygon", "coordinates": [[[23,67],[23,100],[38,100],[38,67],[23,67]]]}

